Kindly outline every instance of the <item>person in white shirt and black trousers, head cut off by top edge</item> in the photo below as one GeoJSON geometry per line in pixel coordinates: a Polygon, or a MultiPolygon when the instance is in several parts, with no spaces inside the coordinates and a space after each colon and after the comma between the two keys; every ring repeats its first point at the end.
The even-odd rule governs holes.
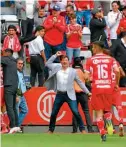
{"type": "Polygon", "coordinates": [[[34,26],[34,14],[39,7],[38,2],[35,0],[17,0],[15,6],[17,18],[21,25],[22,36],[31,36],[34,26]]]}

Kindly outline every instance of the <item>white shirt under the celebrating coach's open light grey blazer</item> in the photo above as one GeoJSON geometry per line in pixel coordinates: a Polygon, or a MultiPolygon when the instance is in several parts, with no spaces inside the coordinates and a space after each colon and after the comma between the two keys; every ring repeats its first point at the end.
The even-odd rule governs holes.
{"type": "Polygon", "coordinates": [[[67,91],[67,83],[68,83],[68,75],[69,75],[69,68],[66,70],[60,70],[56,74],[57,78],[57,90],[58,91],[67,91]]]}

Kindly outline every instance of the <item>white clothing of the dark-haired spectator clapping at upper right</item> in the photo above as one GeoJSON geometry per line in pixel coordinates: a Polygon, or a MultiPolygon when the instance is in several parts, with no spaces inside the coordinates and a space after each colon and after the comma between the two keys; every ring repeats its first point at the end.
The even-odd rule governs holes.
{"type": "Polygon", "coordinates": [[[108,26],[110,28],[110,39],[117,39],[116,30],[118,29],[121,18],[122,18],[122,14],[120,11],[118,12],[111,11],[108,13],[107,21],[108,21],[108,26]],[[116,19],[118,13],[119,13],[119,17],[118,19],[116,19]]]}

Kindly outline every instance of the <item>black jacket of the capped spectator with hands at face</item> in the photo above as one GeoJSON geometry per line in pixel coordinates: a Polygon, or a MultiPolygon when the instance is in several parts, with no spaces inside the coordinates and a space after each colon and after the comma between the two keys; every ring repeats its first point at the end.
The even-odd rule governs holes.
{"type": "Polygon", "coordinates": [[[105,41],[106,40],[106,34],[105,29],[106,27],[106,21],[103,18],[102,20],[99,20],[97,18],[92,18],[90,21],[90,31],[91,31],[91,42],[98,41],[105,41]]]}

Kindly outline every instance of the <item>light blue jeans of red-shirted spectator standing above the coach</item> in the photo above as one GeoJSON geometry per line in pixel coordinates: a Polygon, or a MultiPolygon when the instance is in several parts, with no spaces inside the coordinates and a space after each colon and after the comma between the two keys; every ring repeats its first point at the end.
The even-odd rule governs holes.
{"type": "Polygon", "coordinates": [[[66,50],[67,56],[69,58],[69,62],[72,63],[72,59],[76,57],[80,57],[80,48],[68,48],[66,50]]]}

